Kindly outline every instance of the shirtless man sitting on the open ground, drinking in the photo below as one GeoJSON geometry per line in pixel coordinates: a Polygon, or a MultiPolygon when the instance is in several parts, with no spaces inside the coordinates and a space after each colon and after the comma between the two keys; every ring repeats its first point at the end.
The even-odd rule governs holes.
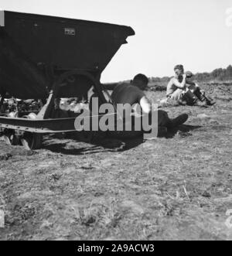
{"type": "Polygon", "coordinates": [[[172,77],[167,86],[166,97],[168,101],[172,100],[179,104],[196,104],[200,106],[215,104],[203,94],[196,83],[189,80],[189,78],[193,77],[193,73],[184,73],[183,65],[177,65],[174,71],[176,76],[172,77]]]}

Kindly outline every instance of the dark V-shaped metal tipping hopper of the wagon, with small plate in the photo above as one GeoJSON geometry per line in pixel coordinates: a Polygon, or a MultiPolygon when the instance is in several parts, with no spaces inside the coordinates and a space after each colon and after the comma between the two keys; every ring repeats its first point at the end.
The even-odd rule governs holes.
{"type": "Polygon", "coordinates": [[[128,26],[0,11],[0,91],[43,98],[49,72],[84,70],[99,77],[134,34],[128,26]]]}

